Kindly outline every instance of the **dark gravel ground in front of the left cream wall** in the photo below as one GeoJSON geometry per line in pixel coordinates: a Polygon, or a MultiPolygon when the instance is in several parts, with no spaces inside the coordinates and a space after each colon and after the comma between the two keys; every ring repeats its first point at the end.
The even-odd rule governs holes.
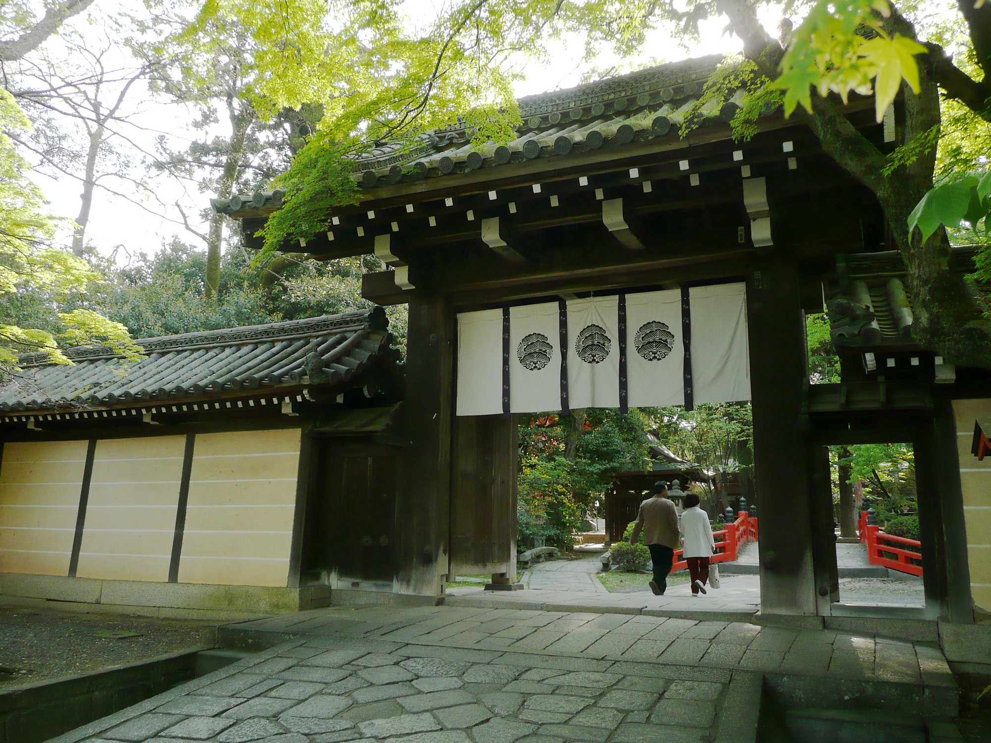
{"type": "Polygon", "coordinates": [[[212,634],[205,622],[0,606],[0,690],[212,645],[212,634]]]}

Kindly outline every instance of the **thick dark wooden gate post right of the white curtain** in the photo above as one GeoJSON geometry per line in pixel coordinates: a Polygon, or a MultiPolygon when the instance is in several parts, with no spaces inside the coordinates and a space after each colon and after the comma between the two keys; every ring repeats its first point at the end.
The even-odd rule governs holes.
{"type": "Polygon", "coordinates": [[[764,615],[816,614],[808,450],[801,426],[805,321],[794,258],[769,257],[747,281],[755,484],[764,615]]]}

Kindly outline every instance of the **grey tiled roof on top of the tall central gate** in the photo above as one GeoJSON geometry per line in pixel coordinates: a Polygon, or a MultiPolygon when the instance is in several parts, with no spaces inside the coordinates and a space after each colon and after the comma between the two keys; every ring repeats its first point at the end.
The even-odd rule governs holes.
{"type": "MultiPolygon", "coordinates": [[[[456,125],[413,141],[377,144],[357,157],[354,178],[366,191],[386,185],[498,167],[533,159],[562,158],[662,137],[678,137],[686,123],[729,122],[743,91],[696,106],[719,54],[660,64],[628,74],[520,98],[522,123],[508,143],[479,148],[475,131],[456,125]]],[[[772,113],[772,112],[768,112],[772,113]]],[[[237,217],[274,211],[284,192],[255,191],[213,199],[213,208],[237,217]]],[[[371,196],[371,194],[370,194],[371,196]]]]}

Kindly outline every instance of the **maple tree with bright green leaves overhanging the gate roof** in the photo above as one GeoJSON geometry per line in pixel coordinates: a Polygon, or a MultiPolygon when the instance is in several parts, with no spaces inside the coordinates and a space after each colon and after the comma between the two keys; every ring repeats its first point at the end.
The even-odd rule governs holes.
{"type": "MultiPolygon", "coordinates": [[[[273,64],[274,74],[265,92],[273,102],[323,100],[328,106],[318,136],[283,178],[288,202],[270,219],[268,246],[275,249],[285,238],[307,238],[326,228],[330,209],[353,198],[350,179],[341,177],[347,169],[342,156],[370,140],[411,137],[459,113],[480,126],[480,138],[497,139],[515,116],[506,95],[511,71],[505,61],[511,53],[546,53],[560,34],[575,31],[585,35],[590,55],[604,45],[619,53],[642,53],[647,51],[647,32],[655,26],[666,24],[691,43],[702,20],[721,17],[741,42],[738,65],[740,77],[748,80],[750,99],[783,101],[789,115],[808,123],[826,154],[876,195],[908,265],[917,340],[950,361],[991,366],[986,301],[972,283],[949,269],[949,238],[939,224],[960,220],[954,222],[938,209],[922,220],[920,213],[913,215],[933,189],[941,137],[991,143],[991,3],[956,0],[955,6],[944,7],[941,0],[897,5],[888,0],[798,0],[786,7],[800,23],[791,32],[795,24],[783,19],[780,39],[761,25],[761,5],[758,0],[459,0],[445,6],[436,24],[412,37],[388,33],[382,18],[359,10],[352,21],[371,24],[380,34],[361,48],[354,65],[376,82],[366,80],[354,95],[345,93],[353,75],[333,64],[317,70],[299,53],[308,38],[303,34],[304,41],[289,45],[291,55],[276,51],[266,61],[273,64]],[[391,63],[384,65],[387,60],[391,63]],[[279,75],[285,73],[293,80],[283,89],[279,75]],[[872,91],[879,115],[896,95],[904,101],[904,145],[894,155],[865,139],[841,113],[841,99],[872,91]],[[942,128],[944,123],[948,126],[942,128]],[[910,229],[913,216],[920,227],[910,229]]],[[[241,8],[235,2],[218,7],[221,13],[241,8]]],[[[293,16],[284,15],[282,21],[291,28],[293,16]]],[[[261,21],[252,28],[258,35],[272,33],[261,21]]],[[[744,106],[738,116],[757,109],[744,106]]],[[[747,130],[737,128],[741,137],[747,130]]],[[[947,169],[967,170],[968,161],[971,171],[985,167],[962,157],[947,169]]],[[[976,194],[986,213],[991,177],[983,182],[983,191],[976,179],[961,188],[976,194]]],[[[971,223],[979,211],[967,212],[971,223]]]]}

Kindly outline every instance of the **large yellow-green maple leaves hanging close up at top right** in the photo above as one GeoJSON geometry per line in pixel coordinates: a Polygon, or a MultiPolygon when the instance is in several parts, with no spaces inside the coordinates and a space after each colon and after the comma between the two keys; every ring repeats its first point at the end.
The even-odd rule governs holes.
{"type": "Polygon", "coordinates": [[[838,93],[845,101],[851,92],[866,94],[873,87],[878,122],[903,79],[918,93],[915,55],[927,50],[913,39],[886,33],[881,19],[890,15],[887,0],[819,0],[797,30],[782,59],[781,75],[772,83],[785,91],[785,116],[800,104],[812,113],[812,88],[823,97],[838,93]],[[873,32],[870,38],[864,28],[873,32]]]}

